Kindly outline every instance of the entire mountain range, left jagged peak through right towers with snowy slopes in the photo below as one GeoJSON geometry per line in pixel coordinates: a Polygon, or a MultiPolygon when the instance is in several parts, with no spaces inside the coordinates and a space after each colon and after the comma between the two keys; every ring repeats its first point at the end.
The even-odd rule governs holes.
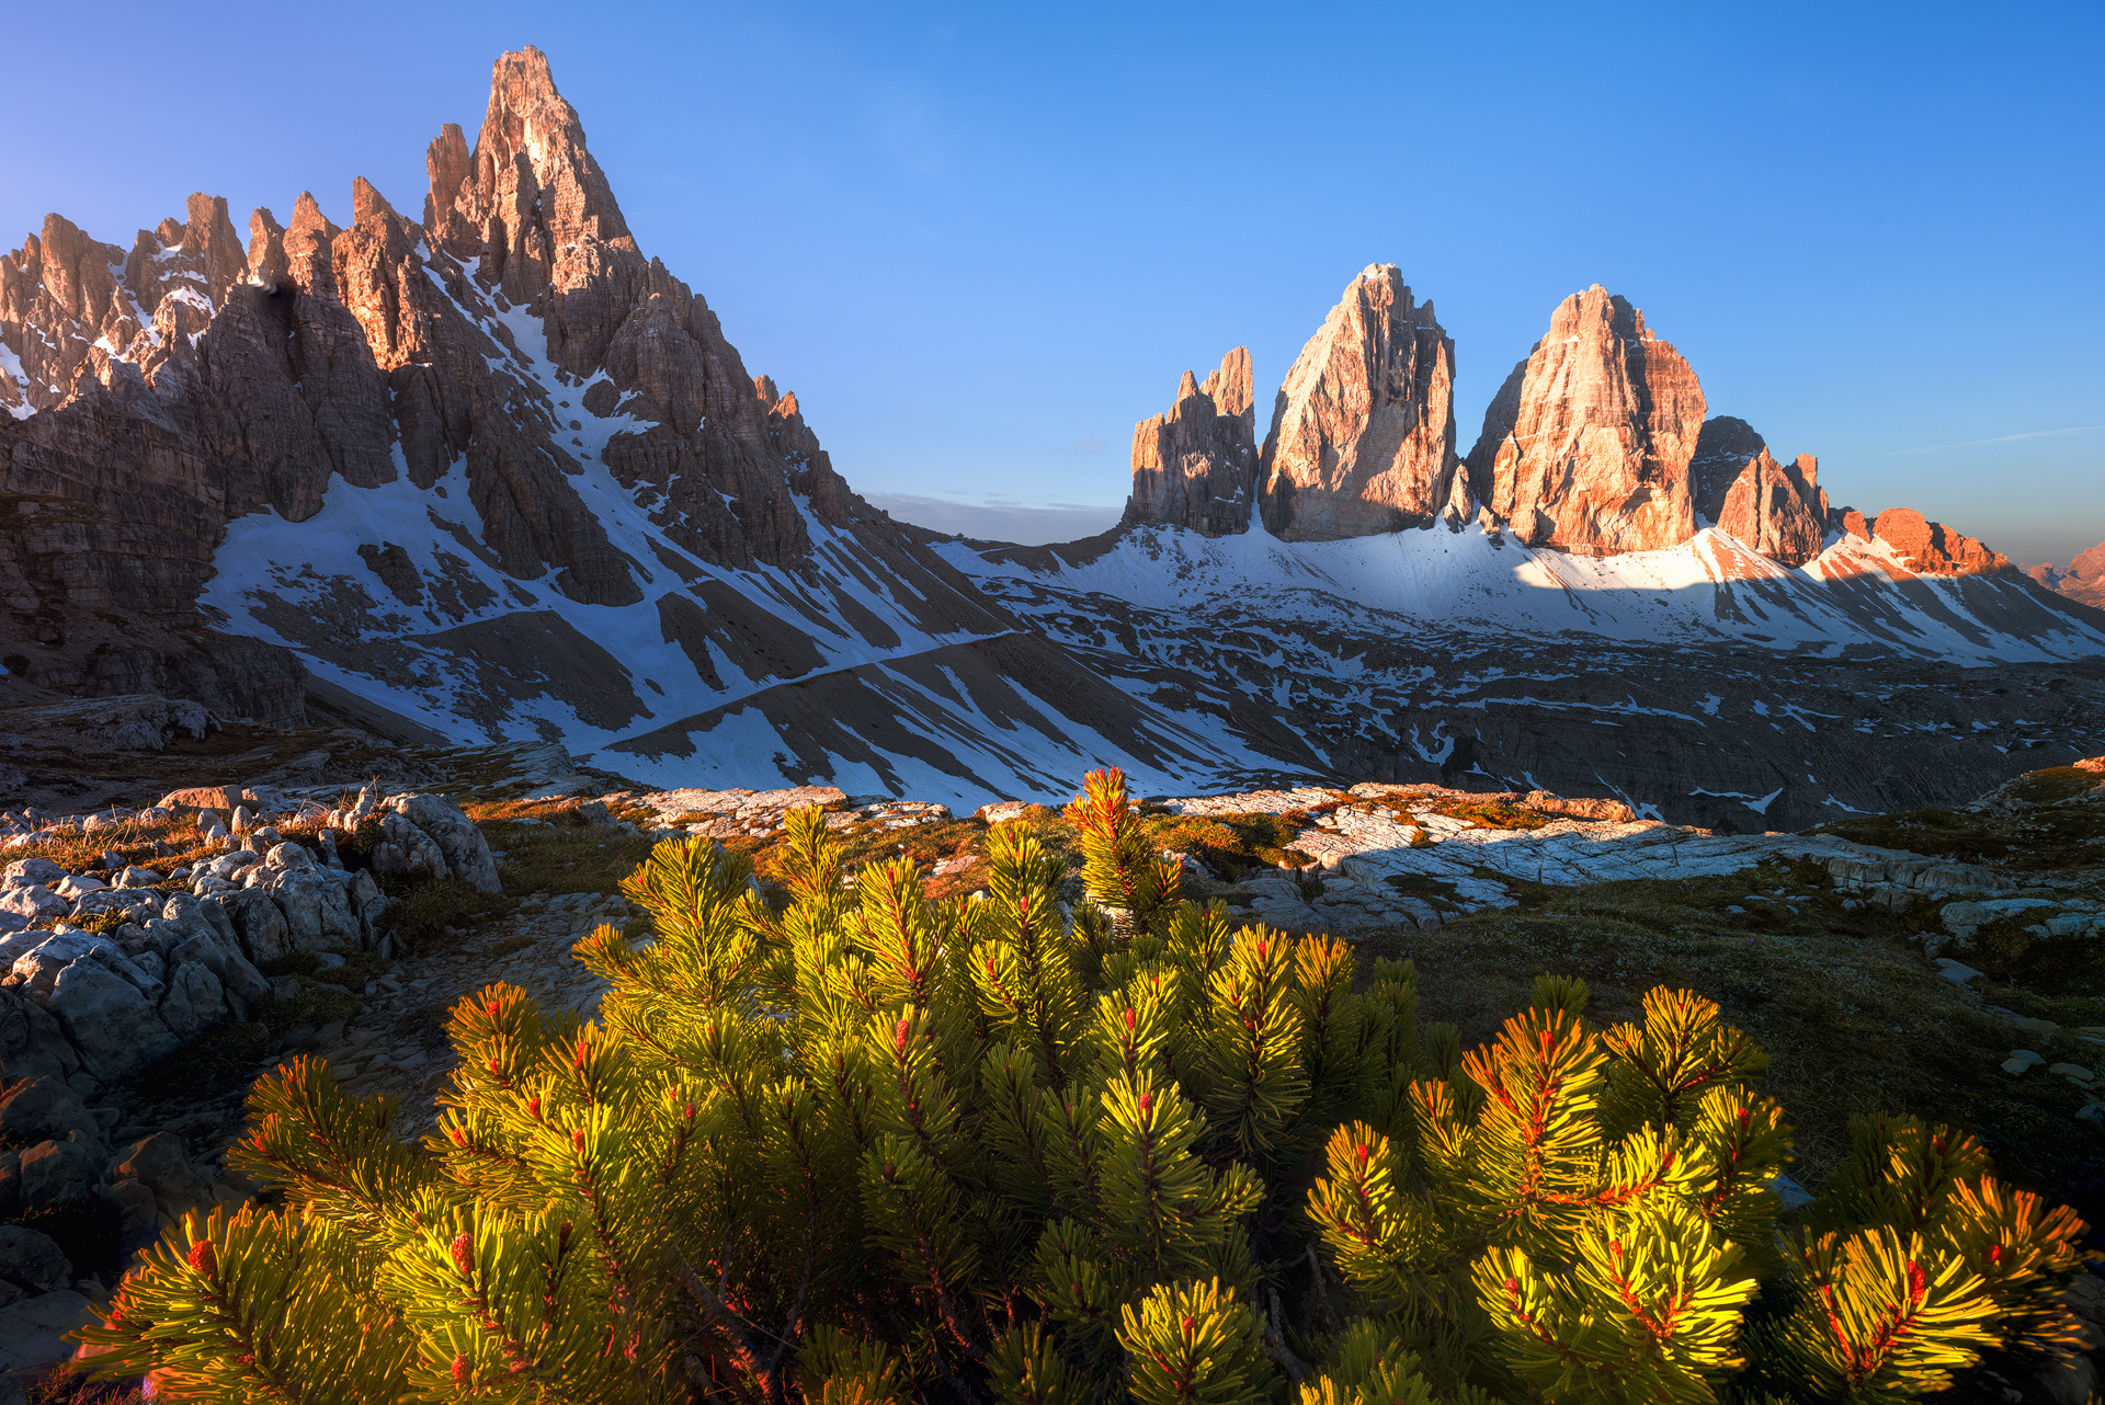
{"type": "Polygon", "coordinates": [[[537,736],[657,785],[979,803],[1118,763],[1722,829],[2101,749],[2105,612],[1831,505],[1600,286],[1461,452],[1455,341],[1372,265],[1263,440],[1229,351],[1135,429],[1118,528],[1008,547],[848,488],[638,248],[539,50],[427,175],[421,219],[360,179],[347,227],[303,194],[244,240],[194,196],[0,257],[4,696],[537,736]]]}

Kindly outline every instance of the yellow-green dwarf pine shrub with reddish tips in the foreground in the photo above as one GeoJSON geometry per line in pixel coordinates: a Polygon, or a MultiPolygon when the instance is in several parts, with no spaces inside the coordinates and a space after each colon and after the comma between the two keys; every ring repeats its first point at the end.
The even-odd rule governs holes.
{"type": "Polygon", "coordinates": [[[1095,907],[996,827],[983,900],[844,883],[789,816],[764,902],[705,841],[577,955],[600,1018],[463,999],[438,1132],[318,1062],[86,1331],[175,1399],[621,1403],[1892,1401],[2067,1350],[2082,1224],[1979,1142],[1861,1121],[1777,1230],[1764,1054],[1686,991],[1543,978],[1463,1052],[1408,963],[1179,898],[1122,778],[1095,907]],[[1116,921],[1099,909],[1116,909],[1116,921]]]}

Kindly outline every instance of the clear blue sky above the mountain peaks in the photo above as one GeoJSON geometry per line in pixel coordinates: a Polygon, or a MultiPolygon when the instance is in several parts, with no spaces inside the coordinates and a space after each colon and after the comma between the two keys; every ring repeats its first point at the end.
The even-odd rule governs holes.
{"type": "Polygon", "coordinates": [[[0,34],[8,246],[44,210],[128,244],[192,189],[343,221],[354,175],[415,212],[425,141],[539,44],[644,252],[871,496],[1107,520],[1183,368],[1246,343],[1269,410],[1385,261],[1459,343],[1463,448],[1602,282],[1838,503],[2105,541],[2094,2],[6,0],[0,34]]]}

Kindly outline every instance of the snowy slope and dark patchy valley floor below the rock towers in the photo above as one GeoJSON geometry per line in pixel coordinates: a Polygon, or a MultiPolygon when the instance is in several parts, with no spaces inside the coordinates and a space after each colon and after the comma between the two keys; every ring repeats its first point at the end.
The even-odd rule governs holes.
{"type": "Polygon", "coordinates": [[[1311,778],[1760,831],[1949,803],[2105,745],[2105,616],[1848,534],[1798,570],[1716,530],[1615,557],[1478,526],[937,551],[1132,696],[1261,749],[1297,738],[1311,778]]]}

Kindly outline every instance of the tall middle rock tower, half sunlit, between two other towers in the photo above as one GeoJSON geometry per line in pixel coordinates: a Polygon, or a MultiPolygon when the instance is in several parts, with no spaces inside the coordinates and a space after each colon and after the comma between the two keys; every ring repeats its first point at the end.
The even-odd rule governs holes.
{"type": "Polygon", "coordinates": [[[1450,505],[1457,465],[1455,341],[1396,265],[1368,265],[1280,387],[1259,465],[1265,528],[1337,541],[1425,526],[1450,505]]]}

